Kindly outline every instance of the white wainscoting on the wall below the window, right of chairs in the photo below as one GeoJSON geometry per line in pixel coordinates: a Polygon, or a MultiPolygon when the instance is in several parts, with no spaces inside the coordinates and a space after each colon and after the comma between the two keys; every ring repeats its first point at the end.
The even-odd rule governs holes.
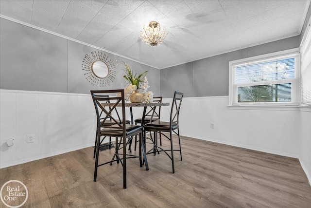
{"type": "MultiPolygon", "coordinates": [[[[171,99],[164,99],[169,101],[171,99]]],[[[228,96],[184,98],[182,135],[298,158],[300,116],[293,110],[228,109],[228,96]],[[210,128],[210,123],[215,128],[210,128]]],[[[162,110],[161,110],[162,111],[162,110]]],[[[162,111],[161,116],[167,114],[162,111]],[[163,114],[162,114],[163,113],[163,114]]]]}

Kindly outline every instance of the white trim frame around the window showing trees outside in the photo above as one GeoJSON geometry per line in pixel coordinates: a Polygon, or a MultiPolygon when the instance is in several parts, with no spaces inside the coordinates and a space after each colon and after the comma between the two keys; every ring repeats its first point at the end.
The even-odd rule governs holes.
{"type": "MultiPolygon", "coordinates": [[[[242,58],[238,60],[233,60],[229,61],[229,99],[228,99],[228,107],[298,107],[299,106],[299,94],[300,94],[300,67],[298,69],[295,69],[295,80],[296,80],[296,89],[294,93],[295,96],[297,96],[296,103],[291,103],[291,102],[262,102],[262,103],[235,103],[235,93],[234,93],[234,88],[233,88],[233,65],[238,65],[238,64],[244,64],[247,62],[256,62],[256,61],[264,61],[265,59],[272,59],[276,57],[282,57],[282,56],[287,56],[287,55],[293,55],[297,54],[298,58],[299,56],[299,48],[294,48],[294,49],[289,49],[289,50],[284,50],[284,51],[278,51],[274,53],[269,53],[269,54],[264,54],[264,55],[259,55],[255,57],[247,57],[247,58],[242,58]]],[[[300,60],[298,60],[300,62],[300,60]]],[[[300,63],[299,63],[300,64],[300,63]]],[[[299,65],[298,65],[299,66],[299,65]]]]}

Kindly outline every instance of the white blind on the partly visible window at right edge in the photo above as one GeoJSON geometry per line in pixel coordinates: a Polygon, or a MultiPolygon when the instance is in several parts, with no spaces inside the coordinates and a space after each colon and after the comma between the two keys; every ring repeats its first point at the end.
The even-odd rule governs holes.
{"type": "Polygon", "coordinates": [[[300,84],[301,104],[311,105],[311,26],[306,28],[304,40],[300,46],[300,84]]]}

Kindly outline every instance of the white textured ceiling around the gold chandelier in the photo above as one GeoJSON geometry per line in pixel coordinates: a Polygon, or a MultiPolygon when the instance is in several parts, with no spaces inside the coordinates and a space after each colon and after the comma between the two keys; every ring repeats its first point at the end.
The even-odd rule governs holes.
{"type": "Polygon", "coordinates": [[[299,35],[310,0],[0,0],[16,19],[163,69],[299,35]],[[139,38],[155,20],[169,32],[139,38]]]}

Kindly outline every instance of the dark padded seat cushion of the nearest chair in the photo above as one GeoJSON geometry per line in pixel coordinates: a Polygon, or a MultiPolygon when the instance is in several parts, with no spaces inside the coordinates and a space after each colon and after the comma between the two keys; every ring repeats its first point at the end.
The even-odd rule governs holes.
{"type": "MultiPolygon", "coordinates": [[[[101,131],[101,135],[103,135],[103,136],[121,137],[121,136],[123,136],[123,130],[118,128],[118,127],[119,127],[119,125],[114,124],[112,126],[104,128],[101,131]]],[[[126,136],[128,136],[128,135],[132,135],[133,133],[139,133],[142,130],[142,126],[126,124],[125,125],[125,129],[126,129],[125,130],[126,136]]]]}

